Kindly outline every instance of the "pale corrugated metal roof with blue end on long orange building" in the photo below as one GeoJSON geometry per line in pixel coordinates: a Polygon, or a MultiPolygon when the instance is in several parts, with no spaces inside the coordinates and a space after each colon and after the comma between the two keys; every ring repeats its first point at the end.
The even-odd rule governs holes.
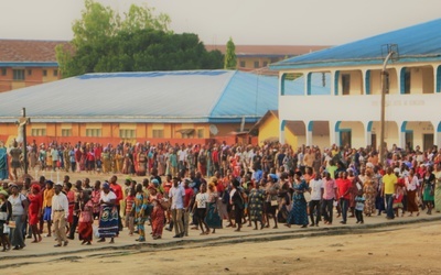
{"type": "Polygon", "coordinates": [[[235,70],[87,74],[0,94],[0,122],[239,122],[278,108],[277,77],[235,70]]]}

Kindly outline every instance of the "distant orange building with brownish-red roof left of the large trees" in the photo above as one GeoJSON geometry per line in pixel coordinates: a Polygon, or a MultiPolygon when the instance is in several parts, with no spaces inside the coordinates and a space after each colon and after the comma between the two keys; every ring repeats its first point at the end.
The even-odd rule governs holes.
{"type": "Polygon", "coordinates": [[[0,40],[0,92],[61,79],[58,44],[68,42],[0,40]]]}

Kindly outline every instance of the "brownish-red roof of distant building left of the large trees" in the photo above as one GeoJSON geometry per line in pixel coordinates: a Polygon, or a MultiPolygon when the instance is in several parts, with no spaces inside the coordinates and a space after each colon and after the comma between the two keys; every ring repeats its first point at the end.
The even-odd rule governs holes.
{"type": "Polygon", "coordinates": [[[55,46],[67,41],[0,40],[0,62],[56,62],[55,46]]]}

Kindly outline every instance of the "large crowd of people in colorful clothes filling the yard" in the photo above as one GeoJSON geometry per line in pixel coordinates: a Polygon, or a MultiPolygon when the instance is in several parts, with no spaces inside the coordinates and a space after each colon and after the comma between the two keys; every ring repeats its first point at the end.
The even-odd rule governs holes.
{"type": "MultiPolygon", "coordinates": [[[[372,216],[394,219],[441,210],[441,151],[435,147],[422,152],[419,146],[401,150],[394,145],[384,164],[369,146],[333,145],[323,151],[302,146],[294,151],[279,143],[120,143],[105,148],[54,143],[51,151],[44,144],[39,147],[31,144],[28,154],[46,152],[44,158],[36,158],[40,163],[35,165],[42,168],[112,175],[94,185],[88,178],[72,184],[69,176],[56,184],[44,176],[39,182],[25,177],[23,185],[4,180],[0,189],[3,251],[23,249],[26,238],[39,243],[43,231],[47,237],[54,233],[58,248],[76,234],[85,245],[94,238],[114,243],[125,227],[130,235],[137,235],[136,241],[146,242],[149,233],[152,240],[162,239],[164,229],[174,231],[173,238],[185,238],[190,230],[206,235],[222,228],[332,226],[335,213],[340,223],[346,224],[349,218],[364,223],[372,216]],[[52,152],[64,156],[65,151],[73,152],[74,158],[69,153],[68,158],[54,160],[52,152]],[[90,152],[94,158],[87,157],[90,152]],[[122,163],[121,170],[115,170],[118,162],[114,165],[112,152],[128,157],[130,167],[122,163]],[[115,172],[128,174],[123,184],[118,184],[115,172]],[[137,183],[130,175],[146,177],[137,183]]],[[[12,161],[11,167],[19,167],[12,161]]]]}

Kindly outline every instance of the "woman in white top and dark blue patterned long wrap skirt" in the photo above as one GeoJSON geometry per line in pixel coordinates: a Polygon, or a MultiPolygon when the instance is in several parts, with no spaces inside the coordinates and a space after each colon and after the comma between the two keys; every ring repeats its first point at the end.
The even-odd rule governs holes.
{"type": "Polygon", "coordinates": [[[100,194],[100,207],[101,211],[99,215],[99,241],[105,242],[106,238],[110,238],[110,243],[115,243],[114,238],[118,235],[118,210],[115,206],[117,195],[110,190],[109,183],[103,184],[103,190],[100,194]]]}

